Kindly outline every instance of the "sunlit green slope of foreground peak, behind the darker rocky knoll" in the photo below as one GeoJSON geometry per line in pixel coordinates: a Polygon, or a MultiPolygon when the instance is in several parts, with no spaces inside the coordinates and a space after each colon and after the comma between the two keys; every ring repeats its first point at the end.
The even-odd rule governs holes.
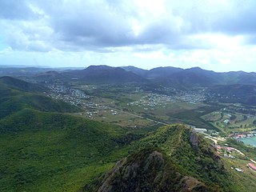
{"type": "Polygon", "coordinates": [[[230,175],[224,169],[223,162],[214,147],[200,135],[192,142],[193,134],[186,126],[164,126],[155,134],[138,142],[138,147],[159,147],[165,151],[181,173],[191,175],[209,186],[232,188],[230,175]]]}

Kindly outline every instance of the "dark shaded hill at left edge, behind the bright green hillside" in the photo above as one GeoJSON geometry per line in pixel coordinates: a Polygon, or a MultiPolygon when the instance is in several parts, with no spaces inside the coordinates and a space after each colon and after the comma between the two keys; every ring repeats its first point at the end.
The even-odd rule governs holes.
{"type": "Polygon", "coordinates": [[[0,119],[19,110],[30,108],[51,112],[75,112],[78,108],[69,103],[46,97],[43,86],[24,82],[18,78],[0,78],[0,119]]]}

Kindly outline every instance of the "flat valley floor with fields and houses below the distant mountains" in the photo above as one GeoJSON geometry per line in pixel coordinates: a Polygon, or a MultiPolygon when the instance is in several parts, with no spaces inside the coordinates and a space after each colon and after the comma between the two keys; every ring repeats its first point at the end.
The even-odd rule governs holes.
{"type": "MultiPolygon", "coordinates": [[[[70,98],[78,103],[82,112],[78,115],[123,127],[154,126],[182,122],[207,130],[232,131],[252,130],[256,116],[252,106],[229,103],[203,102],[203,96],[190,92],[171,95],[156,94],[136,86],[82,85],[74,83],[74,92],[82,92],[83,98],[70,98]],[[154,122],[155,121],[155,122],[154,122]]],[[[69,100],[66,99],[66,102],[69,100]]]]}

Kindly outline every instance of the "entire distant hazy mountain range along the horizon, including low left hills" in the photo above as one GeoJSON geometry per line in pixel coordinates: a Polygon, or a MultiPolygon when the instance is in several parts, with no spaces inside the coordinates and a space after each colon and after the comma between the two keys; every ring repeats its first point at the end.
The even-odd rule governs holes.
{"type": "MultiPolygon", "coordinates": [[[[69,82],[70,80],[105,84],[146,82],[149,85],[174,86],[181,89],[231,84],[255,85],[256,83],[256,73],[253,72],[231,71],[216,73],[211,70],[202,70],[199,67],[183,70],[178,67],[166,66],[143,70],[134,66],[88,66],[84,70],[56,69],[54,71],[46,68],[42,70],[40,68],[15,68],[13,74],[12,68],[7,71],[12,76],[15,76],[18,74],[28,75],[25,73],[27,70],[31,71],[29,76],[33,75],[31,78],[35,82],[69,82]],[[16,73],[15,71],[18,72],[16,73]],[[22,71],[25,72],[22,73],[22,71]]],[[[2,75],[4,74],[3,71],[2,75]]]]}

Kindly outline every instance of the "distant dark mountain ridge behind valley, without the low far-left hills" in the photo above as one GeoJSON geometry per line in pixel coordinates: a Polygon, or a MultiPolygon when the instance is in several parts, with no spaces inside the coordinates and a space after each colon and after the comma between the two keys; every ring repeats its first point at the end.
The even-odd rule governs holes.
{"type": "Polygon", "coordinates": [[[88,66],[84,70],[70,70],[62,72],[69,78],[79,78],[86,82],[98,83],[128,83],[128,82],[157,82],[165,86],[176,87],[204,87],[215,85],[256,84],[256,73],[214,72],[202,70],[199,67],[182,69],[166,66],[152,70],[143,70],[134,66],[88,66]]]}

